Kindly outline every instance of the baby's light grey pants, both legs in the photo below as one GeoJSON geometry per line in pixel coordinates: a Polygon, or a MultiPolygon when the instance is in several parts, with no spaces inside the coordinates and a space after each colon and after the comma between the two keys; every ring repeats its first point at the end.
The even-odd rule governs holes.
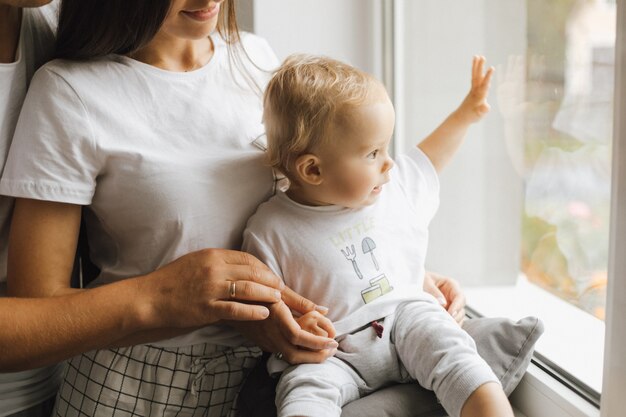
{"type": "Polygon", "coordinates": [[[401,304],[371,326],[338,338],[336,355],[321,364],[287,368],[276,391],[278,417],[340,416],[341,407],[392,382],[417,380],[433,390],[452,417],[474,390],[498,378],[472,338],[434,298],[401,304]]]}

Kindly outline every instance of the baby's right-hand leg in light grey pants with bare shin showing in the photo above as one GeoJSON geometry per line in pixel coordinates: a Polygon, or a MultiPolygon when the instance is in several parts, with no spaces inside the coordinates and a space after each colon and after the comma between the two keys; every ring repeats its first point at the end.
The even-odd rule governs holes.
{"type": "Polygon", "coordinates": [[[391,341],[406,370],[435,391],[452,417],[512,417],[498,378],[478,355],[472,338],[431,298],[408,302],[396,311],[391,341]]]}

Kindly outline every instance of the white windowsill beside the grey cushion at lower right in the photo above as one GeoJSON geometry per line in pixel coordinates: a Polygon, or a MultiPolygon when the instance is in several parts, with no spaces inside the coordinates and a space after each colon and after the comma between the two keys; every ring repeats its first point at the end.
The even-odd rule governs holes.
{"type": "MultiPolygon", "coordinates": [[[[597,392],[602,390],[604,322],[520,277],[515,285],[466,288],[468,305],[482,316],[518,320],[537,316],[545,333],[535,352],[597,392]]],[[[511,395],[527,417],[599,416],[599,409],[531,364],[511,395]]]]}

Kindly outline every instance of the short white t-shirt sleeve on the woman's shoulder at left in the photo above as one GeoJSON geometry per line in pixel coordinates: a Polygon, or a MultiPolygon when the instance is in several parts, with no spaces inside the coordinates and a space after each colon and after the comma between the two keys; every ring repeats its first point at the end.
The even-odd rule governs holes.
{"type": "Polygon", "coordinates": [[[102,158],[80,97],[63,77],[42,67],[20,113],[0,194],[87,205],[102,158]]]}

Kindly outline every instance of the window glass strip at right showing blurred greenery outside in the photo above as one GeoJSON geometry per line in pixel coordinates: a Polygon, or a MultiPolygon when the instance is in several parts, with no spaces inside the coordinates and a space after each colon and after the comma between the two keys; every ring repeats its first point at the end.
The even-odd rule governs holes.
{"type": "Polygon", "coordinates": [[[527,80],[518,83],[525,101],[513,116],[523,119],[522,271],[604,319],[615,3],[529,1],[527,10],[526,59],[508,73],[527,80]]]}

